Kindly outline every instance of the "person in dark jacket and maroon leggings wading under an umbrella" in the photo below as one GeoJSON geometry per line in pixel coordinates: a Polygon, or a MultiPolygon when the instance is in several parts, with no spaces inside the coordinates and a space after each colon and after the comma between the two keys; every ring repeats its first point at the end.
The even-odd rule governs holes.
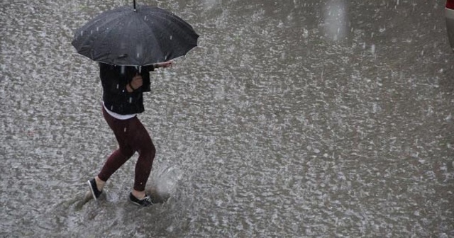
{"type": "Polygon", "coordinates": [[[170,66],[172,61],[145,67],[99,63],[103,89],[102,113],[114,132],[118,149],[107,158],[99,174],[87,181],[94,200],[99,198],[111,175],[138,152],[134,185],[129,200],[135,205],[152,205],[150,196],[145,194],[145,185],[150,176],[156,149],[137,114],[145,111],[143,93],[150,91],[150,72],[170,66]]]}

